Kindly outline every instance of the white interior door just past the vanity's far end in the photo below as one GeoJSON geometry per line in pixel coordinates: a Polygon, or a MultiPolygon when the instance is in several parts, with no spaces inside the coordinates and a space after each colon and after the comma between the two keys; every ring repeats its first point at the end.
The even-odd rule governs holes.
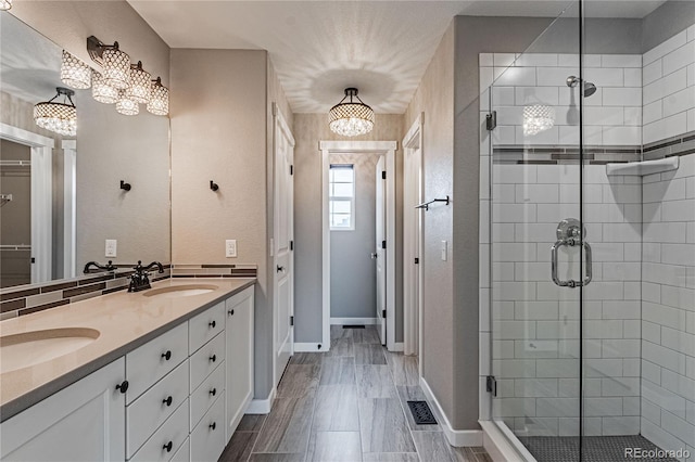
{"type": "Polygon", "coordinates": [[[274,373],[277,386],[293,354],[294,258],[293,258],[293,156],[294,138],[282,114],[275,115],[275,209],[274,209],[274,373]]]}

